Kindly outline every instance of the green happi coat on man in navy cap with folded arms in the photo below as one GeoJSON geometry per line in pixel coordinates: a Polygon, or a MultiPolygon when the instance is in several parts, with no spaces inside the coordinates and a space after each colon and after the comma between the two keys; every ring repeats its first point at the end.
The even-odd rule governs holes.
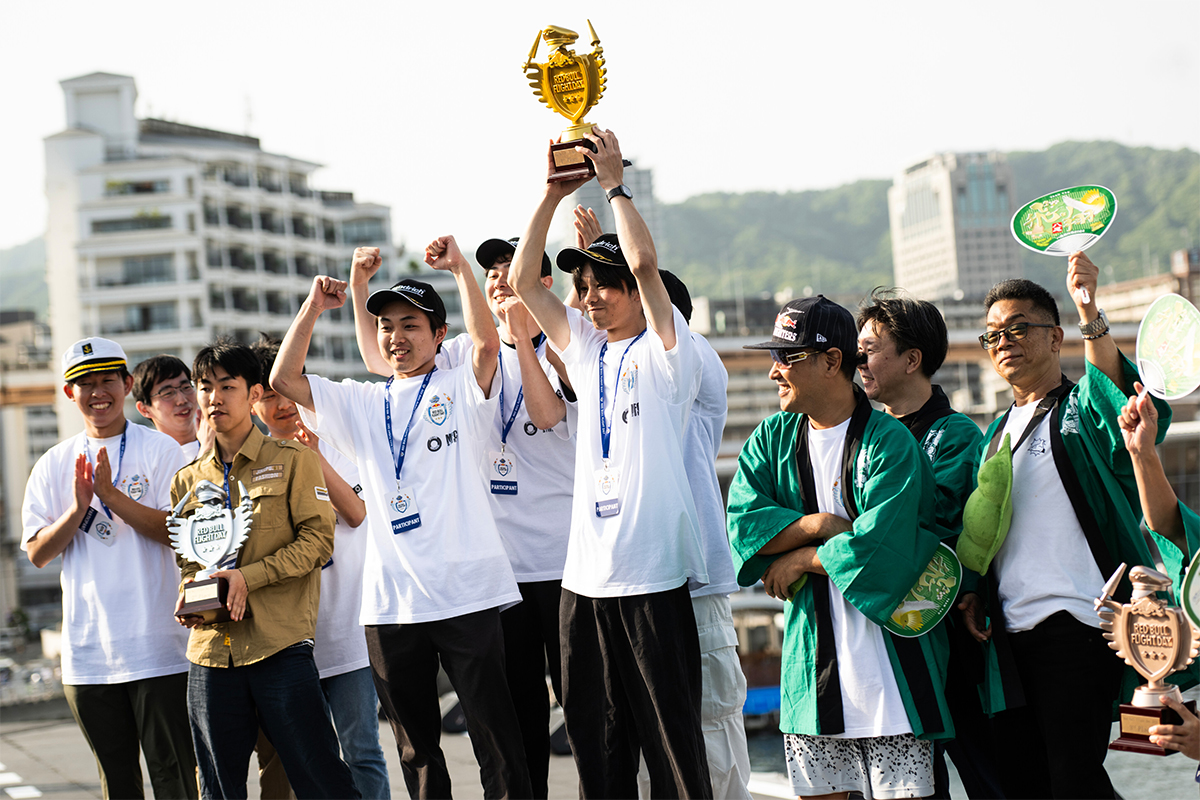
{"type": "MultiPolygon", "coordinates": [[[[798,414],[775,414],[755,429],[738,457],[730,487],[728,533],[738,583],[744,587],[757,582],[778,558],[758,555],[758,551],[805,513],[796,447],[800,426],[806,423],[798,414]]],[[[862,444],[851,458],[851,492],[859,516],[853,531],[834,536],[817,555],[842,596],[878,625],[895,610],[937,547],[934,475],[912,434],[875,410],[870,410],[862,444]]],[[[841,732],[840,685],[830,685],[821,668],[822,620],[814,587],[828,591],[824,578],[809,576],[787,603],[780,729],[828,735],[841,732]],[[834,702],[836,714],[830,716],[834,702]]],[[[944,626],[913,639],[884,631],[883,640],[913,733],[924,739],[952,736],[943,697],[948,656],[944,626]]],[[[826,642],[823,650],[830,648],[833,642],[826,642]]]]}

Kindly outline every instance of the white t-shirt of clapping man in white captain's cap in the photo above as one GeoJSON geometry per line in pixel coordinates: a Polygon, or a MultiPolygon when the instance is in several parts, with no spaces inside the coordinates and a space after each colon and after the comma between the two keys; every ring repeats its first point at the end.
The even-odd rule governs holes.
{"type": "MultiPolygon", "coordinates": [[[[170,509],[170,481],[186,463],[179,444],[142,425],[128,423],[126,433],[124,458],[120,435],[80,433],[37,459],[25,485],[20,549],[71,507],[76,456],[86,453],[95,464],[101,447],[121,492],[151,509],[170,509]]],[[[174,616],[175,552],[115,513],[109,519],[98,498],[90,509],[90,533],[76,531],[62,551],[62,682],[124,684],[187,672],[187,630],[174,616]]]]}

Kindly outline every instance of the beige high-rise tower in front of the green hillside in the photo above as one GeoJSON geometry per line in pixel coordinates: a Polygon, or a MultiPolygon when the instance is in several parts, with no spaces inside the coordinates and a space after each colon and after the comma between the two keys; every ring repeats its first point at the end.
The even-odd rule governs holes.
{"type": "Polygon", "coordinates": [[[907,167],[888,190],[898,287],[923,300],[982,300],[1021,276],[1013,169],[1000,152],[946,152],[907,167]]]}

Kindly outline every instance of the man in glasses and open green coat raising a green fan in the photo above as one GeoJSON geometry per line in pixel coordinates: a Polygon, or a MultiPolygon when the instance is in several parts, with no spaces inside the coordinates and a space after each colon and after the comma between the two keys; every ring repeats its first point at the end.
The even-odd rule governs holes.
{"type": "MultiPolygon", "coordinates": [[[[1070,255],[1067,290],[1087,361],[1078,384],[1062,374],[1064,333],[1049,291],[1010,279],[985,300],[979,343],[1013,387],[1013,405],[989,427],[980,458],[1010,437],[1013,516],[983,597],[967,595],[964,606],[972,634],[990,639],[995,655],[983,698],[996,714],[997,759],[1021,764],[1003,776],[1009,798],[1114,796],[1104,771],[1112,703],[1118,696],[1128,700],[1140,681],[1109,650],[1092,602],[1117,564],[1165,559],[1166,571],[1180,578],[1182,551],[1196,546],[1139,533],[1138,491],[1117,423],[1138,371],[1117,350],[1096,305],[1098,275],[1087,255],[1070,255]],[[1079,698],[1067,711],[1072,735],[1046,739],[1043,732],[1063,718],[1064,676],[1079,698]]],[[[1171,410],[1157,399],[1154,407],[1162,441],[1171,410]]],[[[1128,596],[1128,582],[1122,590],[1128,596]]]]}

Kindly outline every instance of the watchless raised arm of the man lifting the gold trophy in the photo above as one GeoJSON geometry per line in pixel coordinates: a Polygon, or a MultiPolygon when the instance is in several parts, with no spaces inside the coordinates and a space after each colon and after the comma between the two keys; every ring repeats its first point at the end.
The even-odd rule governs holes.
{"type": "MultiPolygon", "coordinates": [[[[576,148],[578,152],[588,156],[592,151],[587,148],[576,148]]],[[[547,174],[554,169],[554,160],[550,150],[546,150],[547,174]]],[[[512,257],[512,265],[509,267],[509,285],[529,309],[538,327],[559,350],[565,350],[571,343],[571,326],[566,321],[566,309],[563,301],[558,299],[541,282],[541,254],[546,252],[546,231],[554,219],[554,210],[563,198],[583,186],[588,180],[577,181],[546,181],[546,190],[541,196],[541,201],[533,212],[528,227],[521,235],[517,243],[517,252],[512,257]]]]}

